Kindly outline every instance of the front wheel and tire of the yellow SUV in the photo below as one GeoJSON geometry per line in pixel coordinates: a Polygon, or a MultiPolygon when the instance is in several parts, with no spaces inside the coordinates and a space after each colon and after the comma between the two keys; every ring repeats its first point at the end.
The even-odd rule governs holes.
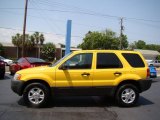
{"type": "Polygon", "coordinates": [[[23,98],[28,107],[45,107],[50,99],[50,91],[42,83],[31,83],[25,87],[23,98]]]}

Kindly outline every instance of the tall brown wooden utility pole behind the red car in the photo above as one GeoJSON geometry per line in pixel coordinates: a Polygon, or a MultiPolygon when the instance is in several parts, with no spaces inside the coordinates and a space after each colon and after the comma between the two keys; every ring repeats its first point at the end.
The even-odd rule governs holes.
{"type": "Polygon", "coordinates": [[[25,34],[26,34],[27,7],[28,7],[28,0],[25,0],[24,23],[23,23],[23,40],[22,40],[22,57],[24,57],[24,43],[25,43],[25,34]]]}

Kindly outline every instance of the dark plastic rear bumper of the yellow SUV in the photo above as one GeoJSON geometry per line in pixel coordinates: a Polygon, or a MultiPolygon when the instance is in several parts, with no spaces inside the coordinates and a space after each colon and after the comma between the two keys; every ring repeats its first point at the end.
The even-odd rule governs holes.
{"type": "Polygon", "coordinates": [[[138,83],[140,86],[140,92],[143,92],[148,90],[151,87],[152,80],[151,79],[139,80],[138,83]]]}

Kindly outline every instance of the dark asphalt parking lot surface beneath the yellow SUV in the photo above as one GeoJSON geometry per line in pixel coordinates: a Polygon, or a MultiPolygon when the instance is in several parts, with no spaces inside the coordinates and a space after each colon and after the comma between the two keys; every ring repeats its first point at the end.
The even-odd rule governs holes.
{"type": "MultiPolygon", "coordinates": [[[[159,72],[158,72],[159,73],[159,72]]],[[[160,77],[140,95],[136,107],[122,108],[111,98],[57,97],[47,108],[27,108],[22,97],[11,91],[13,76],[0,80],[0,120],[159,120],[160,77]]]]}

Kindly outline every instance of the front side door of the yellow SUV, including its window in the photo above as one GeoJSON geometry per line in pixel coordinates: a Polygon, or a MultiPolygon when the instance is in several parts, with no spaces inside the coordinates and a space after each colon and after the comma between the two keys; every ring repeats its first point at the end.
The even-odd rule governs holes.
{"type": "Polygon", "coordinates": [[[92,53],[76,54],[56,69],[56,87],[92,87],[92,53]]]}

